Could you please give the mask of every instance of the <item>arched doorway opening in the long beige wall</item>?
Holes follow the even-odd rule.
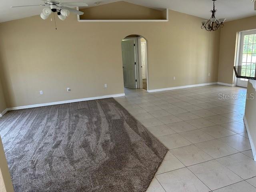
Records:
[[[148,90],[147,40],[129,35],[122,40],[124,88]]]

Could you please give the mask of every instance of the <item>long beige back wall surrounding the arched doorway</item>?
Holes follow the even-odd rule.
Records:
[[[220,32],[202,30],[201,18],[169,14],[169,22],[95,23],[70,15],[57,20],[58,30],[39,16],[1,23],[7,107],[124,93],[121,40],[130,34],[147,40],[149,90],[216,82]]]

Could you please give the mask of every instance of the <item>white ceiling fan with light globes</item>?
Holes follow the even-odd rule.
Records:
[[[47,19],[52,12],[57,12],[58,18],[61,20],[65,20],[66,17],[69,16],[70,12],[82,15],[84,12],[78,11],[72,8],[69,8],[68,6],[88,6],[85,2],[60,2],[58,0],[42,0],[44,4],[40,5],[24,5],[24,6],[12,6],[11,8],[17,8],[17,7],[30,7],[30,6],[46,6],[46,8],[43,9],[42,13],[40,14],[40,17],[42,19]]]

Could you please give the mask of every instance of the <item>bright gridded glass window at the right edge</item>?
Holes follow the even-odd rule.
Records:
[[[256,30],[241,32],[239,66],[241,76],[255,77],[256,70]],[[245,80],[245,79],[240,79]]]

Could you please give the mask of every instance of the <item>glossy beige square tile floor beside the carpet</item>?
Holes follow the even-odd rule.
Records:
[[[245,88],[220,85],[116,100],[168,149],[147,192],[256,192],[256,162],[243,123]],[[220,95],[219,95],[220,94]]]

